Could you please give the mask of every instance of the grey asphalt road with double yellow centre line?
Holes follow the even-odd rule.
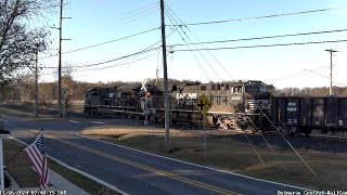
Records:
[[[2,118],[26,142],[43,128],[48,154],[128,194],[278,194],[305,191],[142,153],[81,136],[104,121],[21,121]],[[107,122],[107,120],[106,120]]]

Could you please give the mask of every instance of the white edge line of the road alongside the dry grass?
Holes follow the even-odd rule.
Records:
[[[300,187],[300,186],[294,186],[294,185],[284,184],[284,183],[278,183],[278,182],[268,181],[268,180],[262,180],[262,179],[258,179],[258,178],[252,178],[252,177],[248,177],[248,176],[239,174],[239,173],[230,172],[230,171],[227,171],[227,170],[220,170],[220,169],[216,169],[216,168],[211,168],[211,167],[205,167],[205,166],[197,165],[197,164],[193,164],[193,162],[189,162],[189,161],[183,161],[183,160],[179,160],[179,159],[175,159],[175,158],[169,158],[169,157],[166,157],[166,156],[159,156],[159,155],[156,155],[156,154],[152,154],[152,153],[139,151],[139,150],[136,150],[136,148],[131,148],[131,147],[118,145],[118,144],[115,144],[115,143],[110,143],[110,142],[106,142],[106,141],[103,141],[103,140],[98,140],[98,139],[94,139],[94,138],[86,136],[86,135],[82,135],[82,134],[79,134],[79,133],[75,133],[75,134],[76,134],[76,135],[79,135],[79,136],[87,138],[87,139],[95,140],[95,141],[98,141],[98,142],[106,143],[106,144],[110,144],[110,145],[116,145],[116,146],[118,146],[118,147],[127,148],[127,150],[130,150],[130,151],[134,151],[134,152],[139,152],[139,153],[143,153],[143,154],[156,156],[156,157],[159,157],[159,158],[165,158],[165,159],[169,159],[169,160],[174,160],[174,161],[178,161],[178,162],[182,162],[182,164],[187,164],[187,165],[192,165],[192,166],[196,166],[196,167],[201,167],[201,168],[205,168],[205,169],[209,169],[209,170],[214,170],[214,171],[218,171],[218,172],[223,172],[223,173],[228,173],[228,174],[233,174],[233,176],[237,176],[237,177],[243,177],[243,178],[247,178],[247,179],[250,179],[250,180],[256,180],[256,181],[261,181],[261,182],[268,182],[268,183],[272,183],[272,184],[277,184],[277,185],[295,187],[295,188],[299,188],[299,190],[303,190],[303,191],[313,192],[313,190],[310,190],[310,188],[305,188],[305,187]]]

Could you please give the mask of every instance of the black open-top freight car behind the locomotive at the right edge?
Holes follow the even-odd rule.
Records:
[[[347,98],[272,98],[271,120],[284,134],[347,130]]]

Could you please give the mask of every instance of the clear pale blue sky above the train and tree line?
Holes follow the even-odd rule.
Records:
[[[166,0],[165,6],[169,78],[262,80],[277,88],[329,87],[330,53],[324,50],[333,49],[338,51],[333,55],[333,84],[347,86],[347,42],[240,48],[346,40],[346,0]],[[262,17],[322,9],[333,10]],[[49,26],[59,26],[57,13],[47,18]],[[69,0],[63,16],[72,18],[63,20],[63,39],[70,40],[62,42],[62,66],[73,68],[75,80],[142,81],[155,78],[156,69],[163,78],[159,0]],[[188,25],[214,21],[229,22]],[[332,30],[343,31],[202,43]],[[39,55],[40,81],[57,78],[59,30],[50,31],[50,50]],[[117,41],[70,52],[112,40]],[[149,47],[153,50],[141,52]],[[214,50],[187,51],[204,48]],[[111,62],[103,63],[106,61]]]

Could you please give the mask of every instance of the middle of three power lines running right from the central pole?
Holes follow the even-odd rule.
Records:
[[[343,32],[343,31],[347,31],[347,28],[346,29],[335,29],[335,30],[323,30],[323,31],[309,31],[309,32],[298,32],[298,34],[265,36],[265,37],[252,37],[252,38],[241,38],[241,39],[227,39],[227,40],[215,40],[215,41],[205,41],[205,42],[193,42],[193,43],[189,43],[189,44],[213,44],[213,43],[224,43],[224,42],[236,42],[236,41],[273,39],[273,38],[283,38],[283,37],[321,35],[321,34]],[[185,44],[170,44],[169,47],[179,47],[179,46],[185,46]]]

